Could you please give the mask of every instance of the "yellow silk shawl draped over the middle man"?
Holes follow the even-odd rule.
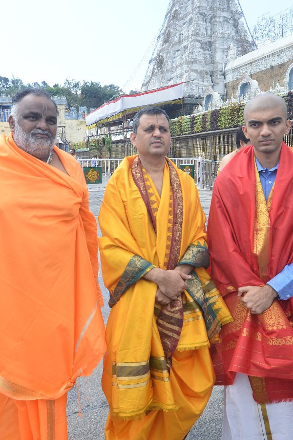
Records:
[[[114,304],[106,330],[112,364],[111,390],[105,378],[102,385],[111,412],[124,419],[141,417],[150,409],[176,410],[154,314],[157,286],[143,278],[154,266],[166,266],[169,167],[166,162],[155,232],[146,204],[133,180],[131,166],[135,157],[126,157],[109,180],[99,215],[103,234],[99,239],[103,278],[112,298],[110,305]],[[206,246],[206,219],[193,180],[169,163],[179,177],[183,200],[180,260],[190,244]],[[217,325],[212,324],[209,333],[215,337],[221,324],[231,320],[230,313],[206,270],[202,267],[195,270],[203,286],[200,289],[203,295],[205,292],[207,303],[212,305],[216,315]],[[133,284],[127,287],[131,278]],[[123,294],[115,303],[113,297],[117,290]],[[177,350],[208,347],[203,311],[187,291],[183,294],[183,305],[184,320]],[[109,359],[106,364],[109,365]]]

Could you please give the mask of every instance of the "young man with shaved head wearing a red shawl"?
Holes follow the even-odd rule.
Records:
[[[211,277],[234,322],[213,350],[225,387],[223,440],[293,438],[293,149],[283,98],[244,110],[251,140],[216,178]]]

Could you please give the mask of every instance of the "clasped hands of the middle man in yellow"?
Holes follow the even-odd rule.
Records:
[[[180,266],[177,266],[172,270],[154,267],[145,275],[145,278],[157,284],[156,303],[165,306],[188,288],[186,280],[189,280],[191,276],[180,270]]]

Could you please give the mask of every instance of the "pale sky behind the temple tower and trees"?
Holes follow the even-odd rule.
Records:
[[[11,0],[1,5],[0,76],[63,85],[66,78],[139,88],[169,0]],[[293,0],[240,0],[251,29]],[[281,5],[281,7],[279,7]],[[5,19],[4,19],[5,17]],[[128,81],[128,83],[127,83]],[[127,83],[127,85],[126,85]]]

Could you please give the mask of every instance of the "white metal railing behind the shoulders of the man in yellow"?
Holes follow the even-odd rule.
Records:
[[[98,167],[102,167],[102,183],[88,185],[89,191],[104,191],[109,178],[112,176],[116,168],[122,162],[120,159],[96,159]],[[201,188],[213,187],[213,182],[217,176],[219,161],[203,160],[201,157],[170,157],[170,160],[180,168],[181,165],[194,166],[194,182]],[[90,159],[79,158],[82,168],[93,166]]]

